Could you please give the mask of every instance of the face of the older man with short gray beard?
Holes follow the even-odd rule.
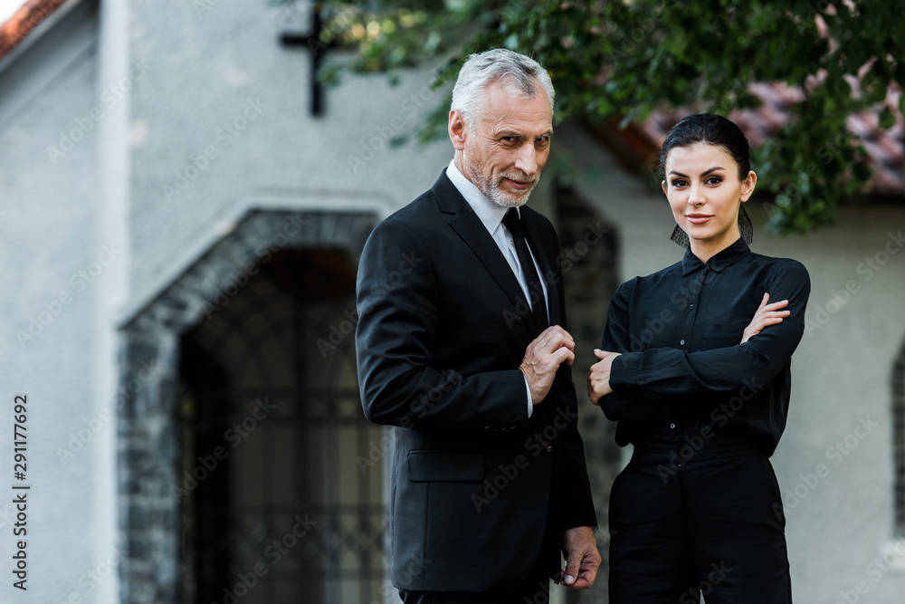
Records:
[[[506,91],[492,82],[485,91],[484,110],[472,119],[470,127],[459,129],[450,115],[453,130],[462,133],[462,169],[464,176],[491,201],[499,206],[525,204],[550,153],[553,116],[547,94],[535,89],[534,97],[525,99],[518,92]]]

